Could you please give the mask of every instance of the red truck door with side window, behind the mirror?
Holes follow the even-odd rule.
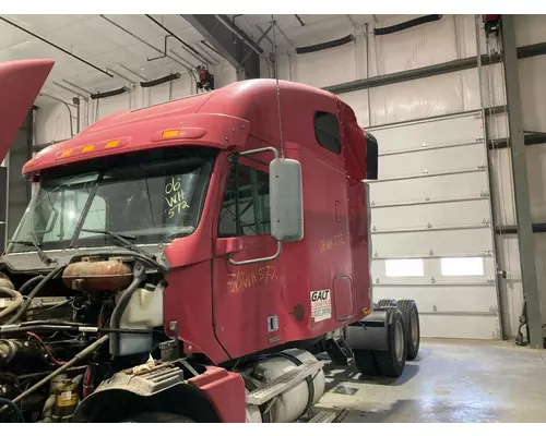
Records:
[[[245,158],[227,164],[221,194],[213,259],[214,329],[230,355],[248,354],[281,340],[278,319],[271,312],[282,287],[277,261],[229,263],[229,258],[240,262],[276,252],[270,235],[268,164]]]

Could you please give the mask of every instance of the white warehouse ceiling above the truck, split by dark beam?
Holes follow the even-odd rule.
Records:
[[[237,26],[254,41],[261,37],[260,29],[266,29],[271,23],[271,15],[228,16],[235,17]],[[216,52],[202,44],[204,38],[180,15],[151,15],[151,17],[146,15],[2,15],[1,17],[114,75],[110,77],[4,20],[0,21],[2,35],[0,61],[54,59],[56,65],[43,92],[64,100],[74,96],[74,93],[62,88],[75,90],[71,84],[91,93],[105,92],[127,85],[129,80],[133,83],[150,81],[173,72],[183,73],[186,71],[183,65],[194,68],[203,63],[173,37],[167,40],[167,53],[170,58],[161,58],[167,32],[151,17],[206,59],[212,60],[213,65],[223,61]],[[280,29],[276,33],[276,44],[280,50],[294,50],[292,38],[308,39],[309,44],[323,43],[321,34],[340,26],[340,23],[344,23],[349,34],[356,32],[356,28],[365,23],[373,22],[375,19],[373,15],[275,15]],[[270,33],[269,38],[271,37]],[[272,46],[268,38],[262,38],[260,46],[266,53],[271,51]],[[158,57],[159,59],[153,61],[147,60]],[[39,104],[40,100],[38,100]]]

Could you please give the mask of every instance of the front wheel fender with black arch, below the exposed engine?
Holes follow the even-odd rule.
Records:
[[[211,378],[206,371],[209,368],[212,370],[214,379],[207,384],[206,379]],[[186,380],[182,370],[175,365],[140,375],[130,371],[116,373],[79,404],[72,422],[121,422],[145,412],[175,413],[204,423],[234,421],[229,415],[223,416],[226,413],[215,407],[218,405],[218,398],[209,395],[209,385],[217,387],[223,384],[223,377],[218,377],[218,372],[214,370],[228,374],[228,377],[238,376],[223,368],[206,367],[203,374]],[[199,379],[202,382],[195,384],[194,380]],[[230,385],[229,378],[225,378],[225,382]],[[242,379],[240,383],[242,384]],[[225,402],[219,403],[222,409],[222,403]],[[245,422],[244,399],[241,412]]]

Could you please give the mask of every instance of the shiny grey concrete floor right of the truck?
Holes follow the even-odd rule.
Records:
[[[546,422],[546,351],[510,342],[422,340],[397,380],[329,362],[324,373],[317,407],[348,409],[342,422]]]

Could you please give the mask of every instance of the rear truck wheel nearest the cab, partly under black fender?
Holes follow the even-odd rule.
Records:
[[[400,377],[406,364],[406,340],[404,335],[404,316],[399,308],[392,310],[392,322],[388,326],[387,351],[373,351],[377,370],[387,377]]]

